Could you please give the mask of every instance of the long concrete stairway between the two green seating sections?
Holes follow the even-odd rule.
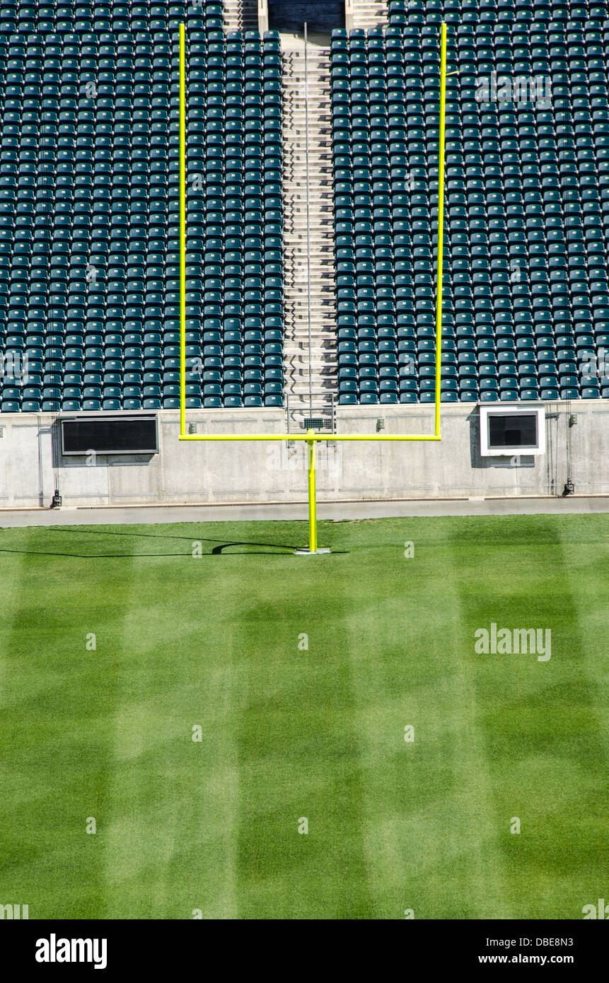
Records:
[[[329,40],[329,38],[328,38]],[[304,41],[281,36],[283,49],[283,196],[285,391],[289,409],[309,403],[307,160]],[[287,50],[286,50],[287,47]],[[311,240],[311,388],[313,409],[330,409],[337,391],[335,226],[330,48],[308,47]]]

